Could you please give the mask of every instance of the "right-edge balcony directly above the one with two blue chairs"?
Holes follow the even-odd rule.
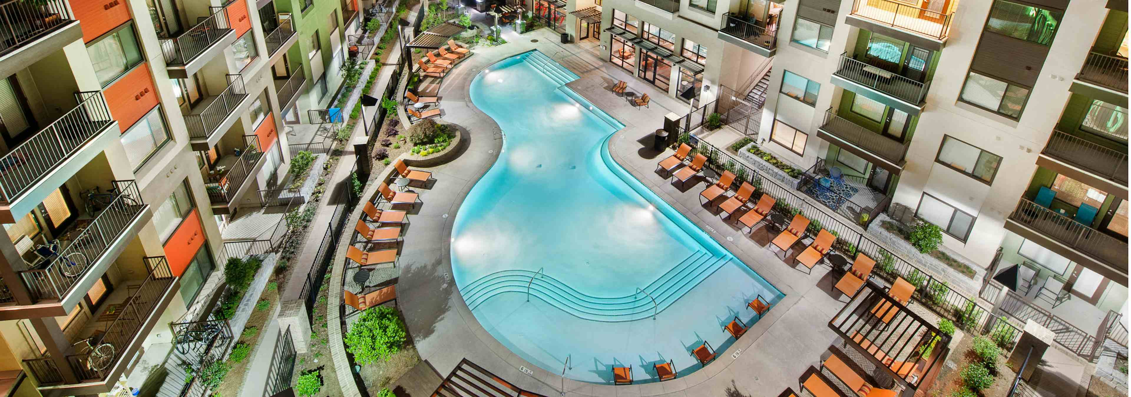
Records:
[[[1128,189],[1128,155],[1072,134],[1053,130],[1037,165],[1105,192]]]

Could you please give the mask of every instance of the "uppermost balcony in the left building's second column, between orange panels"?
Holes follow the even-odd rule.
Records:
[[[159,39],[170,78],[189,78],[235,42],[235,33],[227,24],[227,11],[223,7],[209,7],[208,10],[211,15],[180,36]]]

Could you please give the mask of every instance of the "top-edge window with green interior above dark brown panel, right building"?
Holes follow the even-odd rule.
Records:
[[[1020,38],[1027,42],[1050,45],[1056,35],[1056,27],[1064,11],[1046,10],[1003,0],[994,1],[990,9],[986,30]]]

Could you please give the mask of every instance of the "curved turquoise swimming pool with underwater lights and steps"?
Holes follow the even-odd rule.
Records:
[[[690,349],[726,349],[722,325],[783,294],[612,160],[624,125],[564,87],[576,79],[532,51],[472,81],[504,143],[456,215],[456,284],[492,336],[550,372],[567,358],[566,376],[590,382],[629,364],[647,381],[668,360],[692,372]]]

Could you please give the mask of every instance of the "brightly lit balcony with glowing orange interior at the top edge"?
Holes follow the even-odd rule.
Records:
[[[942,50],[950,36],[952,10],[949,2],[931,1],[927,8],[891,0],[855,0],[845,23],[891,36],[932,51]]]

